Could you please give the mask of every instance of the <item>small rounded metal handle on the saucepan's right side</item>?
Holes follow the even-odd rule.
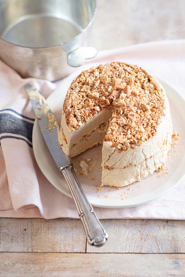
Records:
[[[72,67],[83,65],[85,59],[94,58],[98,51],[94,47],[80,47],[67,54],[67,63]]]

